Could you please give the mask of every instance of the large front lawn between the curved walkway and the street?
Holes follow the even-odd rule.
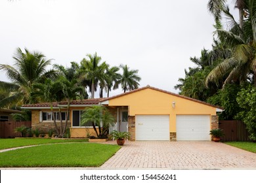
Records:
[[[0,167],[99,167],[119,148],[81,142],[43,144],[0,153]]]

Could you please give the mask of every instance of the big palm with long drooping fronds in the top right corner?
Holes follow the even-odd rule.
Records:
[[[256,86],[256,1],[248,0],[245,6],[248,18],[244,21],[242,29],[226,9],[231,29],[229,31],[217,29],[216,33],[219,40],[230,49],[231,56],[209,73],[205,80],[206,85],[228,73],[224,84],[241,83],[252,76]]]

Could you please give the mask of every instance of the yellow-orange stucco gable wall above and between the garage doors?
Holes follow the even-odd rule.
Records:
[[[175,101],[175,108],[172,103]],[[216,108],[196,101],[184,99],[169,93],[146,88],[128,95],[123,95],[108,101],[109,106],[128,106],[129,115],[169,114],[170,132],[176,132],[177,114],[208,114],[216,115]]]

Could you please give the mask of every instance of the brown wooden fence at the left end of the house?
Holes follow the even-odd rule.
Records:
[[[21,137],[21,133],[15,132],[15,129],[22,125],[31,127],[31,122],[0,122],[0,138]]]

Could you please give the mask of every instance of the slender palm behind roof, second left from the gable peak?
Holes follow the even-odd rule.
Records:
[[[108,67],[106,69],[106,86],[107,86],[107,95],[109,97],[110,91],[116,90],[119,86],[118,80],[121,79],[121,75],[117,73],[119,71],[119,67]]]

